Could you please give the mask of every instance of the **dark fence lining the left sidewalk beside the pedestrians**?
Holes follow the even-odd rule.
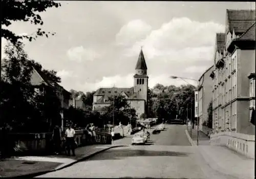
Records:
[[[75,141],[78,146],[111,144],[110,134],[102,131],[95,131],[95,134],[92,137],[87,130],[76,130]],[[61,135],[64,137],[65,131]],[[9,133],[4,140],[6,143],[2,146],[2,154],[48,154],[53,148],[52,133]],[[4,141],[1,143],[4,144]]]

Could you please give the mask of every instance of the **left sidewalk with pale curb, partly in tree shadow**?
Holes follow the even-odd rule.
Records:
[[[119,145],[89,145],[75,150],[76,156],[14,156],[0,161],[0,177],[31,175],[71,166],[93,154]]]

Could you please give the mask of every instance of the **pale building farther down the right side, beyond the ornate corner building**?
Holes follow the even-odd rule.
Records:
[[[212,69],[214,69],[214,65],[210,66],[210,68],[208,68],[199,78],[198,110],[200,129],[202,129],[203,123],[208,120],[207,109],[212,100],[212,79],[210,78],[210,73],[212,72]]]

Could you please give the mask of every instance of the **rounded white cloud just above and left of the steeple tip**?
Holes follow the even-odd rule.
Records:
[[[141,19],[131,20],[116,34],[116,43],[119,46],[131,46],[150,34],[152,27]]]

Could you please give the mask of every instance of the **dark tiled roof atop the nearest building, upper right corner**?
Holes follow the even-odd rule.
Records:
[[[229,32],[243,33],[255,22],[255,10],[227,9],[227,25]]]

